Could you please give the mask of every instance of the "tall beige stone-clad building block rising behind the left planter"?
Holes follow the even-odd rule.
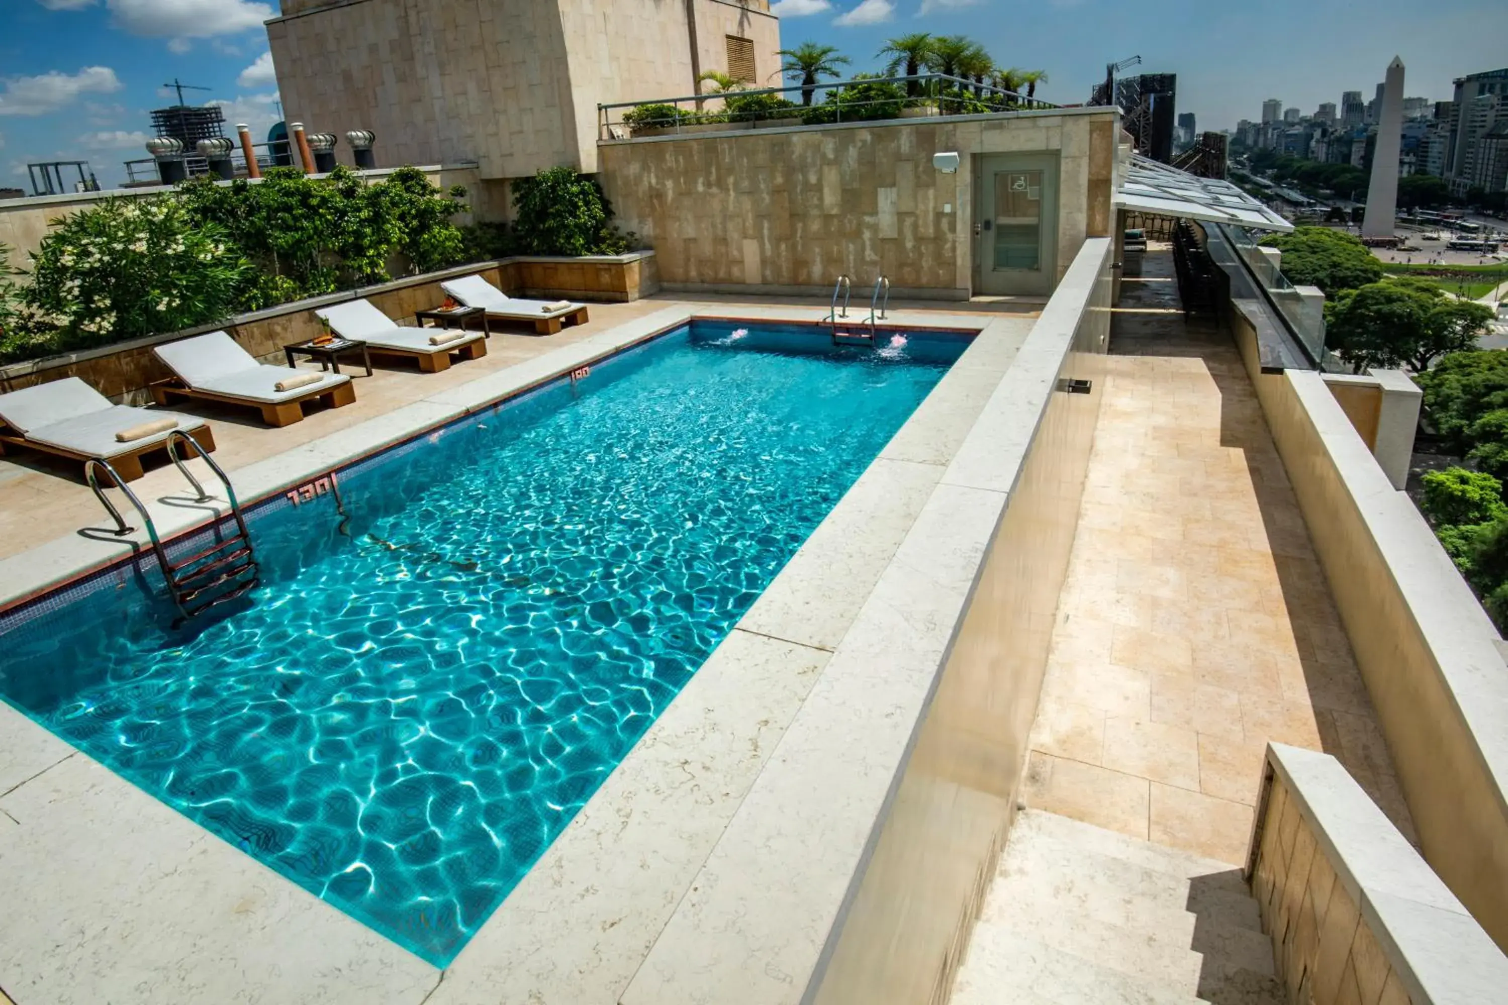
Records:
[[[597,170],[599,104],[780,71],[769,0],[282,0],[267,39],[288,121],[371,130],[388,163],[477,161],[484,179]]]

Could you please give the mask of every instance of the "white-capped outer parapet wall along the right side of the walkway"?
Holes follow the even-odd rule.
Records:
[[[1283,458],[1408,803],[1419,847],[1508,946],[1508,677],[1491,622],[1424,517],[1389,484],[1318,374],[1262,374],[1234,334]]]

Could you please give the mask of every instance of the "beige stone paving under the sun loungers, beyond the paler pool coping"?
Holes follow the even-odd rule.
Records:
[[[562,345],[599,334],[626,321],[674,306],[709,309],[716,313],[725,310],[733,316],[737,316],[740,310],[751,309],[766,312],[771,309],[789,309],[792,316],[816,318],[826,310],[828,304],[810,297],[749,300],[716,295],[661,295],[635,303],[594,303],[591,304],[591,321],[588,324],[570,327],[558,334],[544,338],[495,331],[489,341],[486,357],[455,363],[440,374],[421,374],[412,366],[395,365],[386,368],[374,366],[372,377],[366,377],[365,371],[359,366],[351,368],[342,363],[342,372],[351,374],[351,380],[356,384],[356,402],[342,408],[311,407],[306,410],[302,422],[280,429],[262,425],[256,413],[250,408],[223,407],[213,402],[175,404],[173,408],[204,416],[210,420],[217,444],[214,457],[234,482],[237,469],[247,464],[262,461],[303,443],[386,414],[439,390],[464,384],[478,377],[558,350]],[[1030,303],[896,301],[891,309],[893,312],[908,310],[918,315],[1009,313],[1012,316],[1034,316],[1038,306]],[[851,309],[851,316],[861,318],[866,315],[866,310],[860,310],[855,306]],[[942,322],[939,321],[939,324]],[[302,360],[300,366],[314,369],[318,363]],[[146,476],[131,482],[131,488],[143,502],[149,503],[154,499],[182,491],[182,478],[161,455],[149,460],[148,464],[149,470]],[[151,467],[154,464],[155,467]],[[202,479],[213,478],[199,461],[192,461],[190,464],[195,466]],[[77,463],[30,451],[0,457],[0,559],[18,554],[62,535],[74,533],[80,527],[104,527],[109,524],[109,518],[101,511],[100,503],[83,484],[81,473],[83,467]],[[210,482],[205,481],[205,484],[208,487]]]

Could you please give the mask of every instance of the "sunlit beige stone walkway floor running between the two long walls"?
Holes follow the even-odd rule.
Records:
[[[1274,740],[1333,753],[1411,835],[1240,357],[1167,312],[1157,258],[1114,319],[1027,802],[1241,862]]]

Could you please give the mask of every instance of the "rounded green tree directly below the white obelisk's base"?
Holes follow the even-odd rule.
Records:
[[[1475,348],[1491,318],[1490,307],[1419,280],[1368,283],[1326,304],[1326,342],[1357,372],[1410,366],[1422,374],[1448,353]]]

